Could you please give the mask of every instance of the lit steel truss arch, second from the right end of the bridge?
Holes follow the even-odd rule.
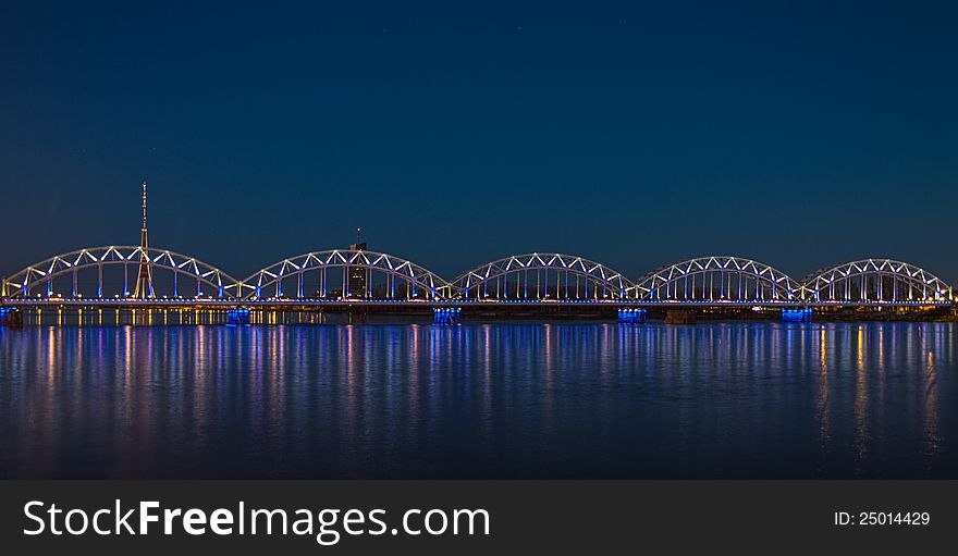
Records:
[[[789,301],[800,295],[801,285],[759,261],[710,256],[660,267],[640,277],[636,289],[648,300]]]

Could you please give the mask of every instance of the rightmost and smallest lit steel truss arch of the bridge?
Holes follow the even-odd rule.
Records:
[[[951,286],[931,272],[893,259],[861,259],[812,272],[802,281],[814,301],[945,301]]]

